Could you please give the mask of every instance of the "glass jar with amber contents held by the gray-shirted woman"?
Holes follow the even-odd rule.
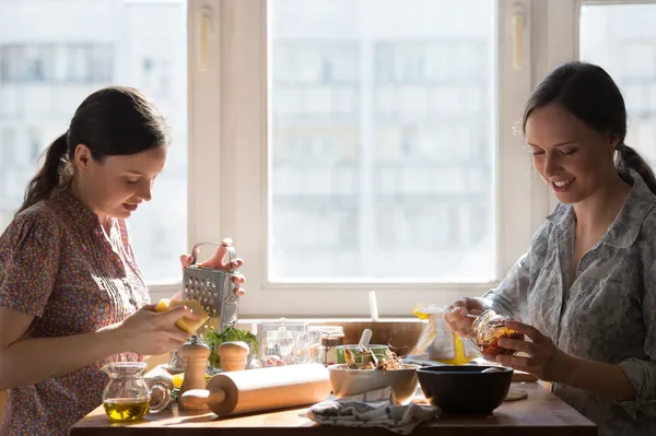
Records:
[[[515,350],[508,350],[499,346],[501,338],[523,340],[524,334],[505,327],[505,321],[512,320],[511,317],[499,315],[492,309],[483,311],[475,321],[471,328],[476,334],[473,340],[480,355],[490,362],[495,362],[500,354],[516,354]]]

